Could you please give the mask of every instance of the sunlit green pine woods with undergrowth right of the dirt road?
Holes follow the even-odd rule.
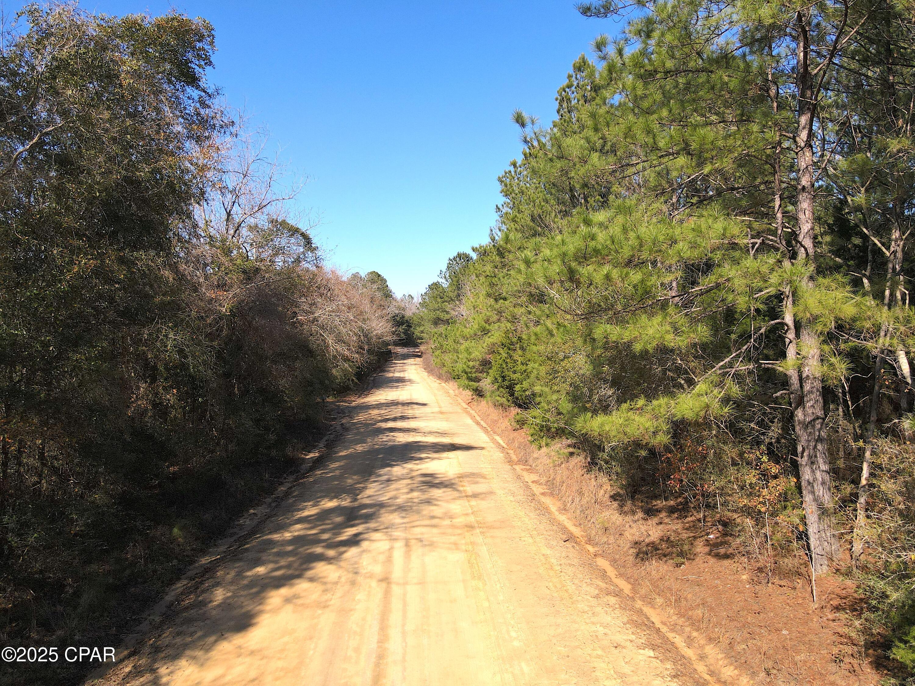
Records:
[[[418,333],[629,498],[855,578],[915,670],[915,6],[579,9],[628,22],[550,126],[515,113],[498,223]]]

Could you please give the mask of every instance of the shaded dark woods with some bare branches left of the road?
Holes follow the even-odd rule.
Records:
[[[0,40],[0,637],[110,644],[409,331],[322,263],[206,21],[30,6]]]

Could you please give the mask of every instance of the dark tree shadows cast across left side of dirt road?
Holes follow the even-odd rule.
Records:
[[[388,390],[402,379],[393,370],[373,385]],[[169,681],[175,672],[162,668],[178,669],[217,640],[252,627],[275,592],[304,579],[319,590],[321,584],[337,583],[340,574],[364,573],[355,566],[365,541],[403,541],[411,524],[434,525],[436,513],[444,516],[449,503],[465,498],[457,477],[433,463],[439,456],[481,448],[411,427],[419,415],[436,413],[425,402],[385,401],[378,395],[373,392],[358,403],[359,413],[348,422],[339,445],[290,488],[268,520],[183,589],[157,623],[155,637],[113,670],[111,681]],[[465,472],[461,478],[472,485],[478,477]],[[393,531],[392,518],[403,526]],[[455,547],[460,545],[457,536]]]

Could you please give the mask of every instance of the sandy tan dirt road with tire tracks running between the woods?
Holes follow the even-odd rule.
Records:
[[[413,351],[104,683],[705,683]]]

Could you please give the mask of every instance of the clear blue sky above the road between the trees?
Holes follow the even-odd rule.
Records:
[[[573,60],[615,32],[574,0],[81,6],[208,19],[211,81],[310,178],[298,205],[320,218],[328,262],[377,270],[398,294],[423,291],[449,256],[487,240],[497,178],[521,150],[511,112],[552,121]]]

